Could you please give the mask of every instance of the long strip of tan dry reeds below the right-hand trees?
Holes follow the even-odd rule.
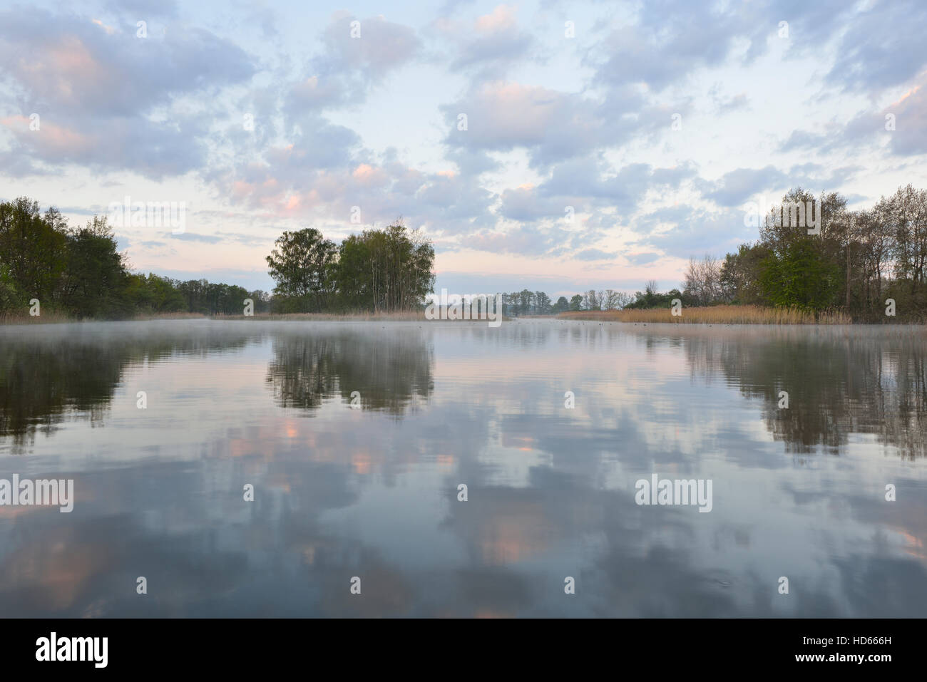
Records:
[[[575,310],[562,312],[566,320],[599,322],[674,322],[677,324],[850,324],[852,319],[841,310],[764,308],[761,306],[710,306],[683,308],[673,315],[669,308],[627,310]]]

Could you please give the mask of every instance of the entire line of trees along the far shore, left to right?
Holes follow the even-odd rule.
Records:
[[[815,205],[818,220],[794,207]],[[927,190],[908,184],[872,208],[848,210],[846,198],[802,188],[782,198],[759,225],[756,242],[724,259],[691,259],[681,289],[649,282],[633,296],[589,290],[552,300],[541,291],[502,294],[508,316],[566,310],[747,304],[843,309],[854,320],[884,319],[886,299],[899,318],[927,317]],[[812,232],[813,234],[809,234]],[[26,197],[0,202],[0,313],[44,309],[76,318],[139,313],[396,311],[422,309],[434,289],[434,247],[401,220],[351,234],[338,245],[313,228],[285,232],[266,257],[273,294],[206,280],[181,282],[130,272],[105,217],[71,228],[56,208],[40,213]]]

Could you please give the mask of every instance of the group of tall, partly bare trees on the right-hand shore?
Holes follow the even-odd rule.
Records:
[[[812,202],[819,221],[809,230],[807,216],[803,221],[792,207]],[[884,320],[891,298],[898,317],[921,319],[927,313],[925,266],[927,190],[908,184],[872,208],[848,210],[836,192],[816,200],[799,187],[770,209],[756,242],[724,259],[691,259],[682,291],[675,293],[684,305],[843,309],[859,322]]]

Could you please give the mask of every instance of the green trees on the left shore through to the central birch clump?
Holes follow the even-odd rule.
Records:
[[[71,228],[37,201],[0,202],[0,315],[41,310],[68,317],[122,319],[139,314],[253,311],[376,311],[424,307],[434,284],[434,249],[400,224],[352,234],[340,246],[317,230],[284,233],[267,257],[273,295],[236,284],[182,282],[131,272],[106,217]]]

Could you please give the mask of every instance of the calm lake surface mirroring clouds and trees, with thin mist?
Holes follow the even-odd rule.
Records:
[[[0,478],[75,487],[0,507],[0,616],[927,616],[925,362],[914,327],[0,327]]]

